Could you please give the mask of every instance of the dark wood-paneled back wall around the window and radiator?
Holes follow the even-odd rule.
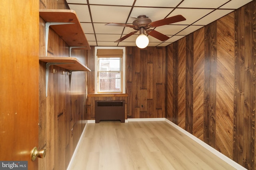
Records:
[[[95,56],[91,47],[88,67],[88,93],[95,93]],[[126,47],[126,93],[128,118],[165,117],[166,98],[165,47]],[[108,98],[113,100],[115,97]],[[94,100],[90,99],[90,104]],[[126,100],[126,97],[123,98]],[[88,119],[94,119],[94,107],[88,103]]]

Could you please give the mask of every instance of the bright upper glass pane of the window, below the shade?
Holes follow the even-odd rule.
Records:
[[[121,58],[99,58],[99,71],[120,71]]]

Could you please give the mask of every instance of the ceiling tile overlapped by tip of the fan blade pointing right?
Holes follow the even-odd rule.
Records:
[[[182,14],[182,16],[184,16],[186,18],[186,20],[176,22],[175,24],[190,25],[190,24],[194,23],[195,21],[197,21],[198,19],[206,16],[206,14],[209,14],[212,11],[213,10],[208,10],[208,9],[180,9],[179,8],[179,9],[174,10],[174,12],[172,12],[170,14],[170,16],[168,16],[168,17]]]

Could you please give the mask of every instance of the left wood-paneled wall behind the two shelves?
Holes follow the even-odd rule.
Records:
[[[65,0],[40,0],[40,9],[68,9]],[[45,22],[40,18],[40,57],[45,57]],[[87,50],[72,50],[87,65]],[[48,57],[68,57],[69,47],[50,29]],[[45,90],[45,63],[39,67],[39,148],[46,148],[46,157],[39,160],[39,170],[66,170],[86,120],[86,72],[72,72],[50,66],[48,97]],[[56,69],[56,73],[52,70]]]

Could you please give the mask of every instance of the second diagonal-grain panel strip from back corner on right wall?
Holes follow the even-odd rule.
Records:
[[[178,40],[178,125],[185,129],[186,118],[186,38]]]

